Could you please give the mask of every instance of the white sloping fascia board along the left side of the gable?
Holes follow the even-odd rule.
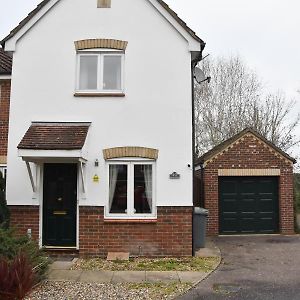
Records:
[[[13,37],[5,42],[5,51],[14,52],[16,50],[17,41],[34,26],[57,2],[60,0],[52,0],[47,3],[25,26],[20,29]]]

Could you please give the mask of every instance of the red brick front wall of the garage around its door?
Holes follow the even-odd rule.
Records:
[[[205,208],[209,210],[208,235],[219,234],[218,176],[219,170],[224,169],[245,171],[256,169],[262,170],[262,174],[266,172],[265,170],[280,170],[280,233],[294,233],[293,163],[254,135],[246,134],[206,163],[204,170],[204,202]]]

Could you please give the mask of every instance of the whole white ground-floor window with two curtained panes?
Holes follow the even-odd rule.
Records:
[[[106,218],[156,218],[155,162],[112,161],[108,166]]]

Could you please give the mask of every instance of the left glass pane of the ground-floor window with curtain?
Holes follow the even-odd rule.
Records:
[[[127,213],[127,165],[109,166],[109,212]]]

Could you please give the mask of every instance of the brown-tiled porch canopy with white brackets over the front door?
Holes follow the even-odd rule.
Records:
[[[83,164],[87,161],[85,142],[90,125],[88,122],[31,124],[18,145],[18,155],[26,162],[34,192],[36,183],[30,163],[36,165],[44,162],[78,162],[83,180]]]

